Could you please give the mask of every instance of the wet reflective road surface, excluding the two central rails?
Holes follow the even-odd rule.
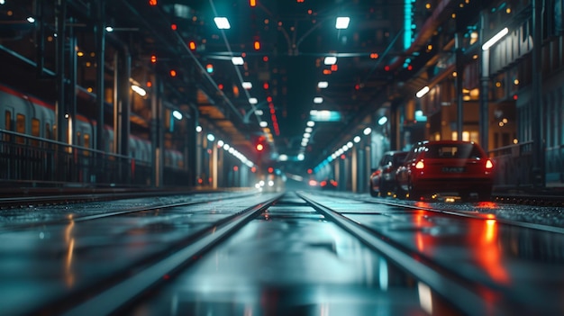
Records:
[[[115,275],[132,274],[132,263],[149,262],[178,240],[275,195],[222,196],[215,201],[206,195],[199,202],[193,196],[159,202],[85,203],[75,205],[76,210],[70,205],[3,210],[0,295],[5,300],[0,310],[3,314],[58,314],[63,310],[53,306],[70,307],[74,302],[68,302],[69,297],[86,289],[101,290]],[[470,296],[476,296],[480,306],[468,312],[464,302],[471,301],[468,297],[457,297],[457,292],[445,295],[442,285],[429,275],[410,271],[386,250],[360,241],[296,194],[287,193],[220,245],[186,259],[190,261],[186,269],[162,275],[162,282],[118,313],[564,313],[564,304],[559,302],[564,296],[564,275],[559,274],[564,235],[558,232],[559,221],[555,220],[556,231],[546,231],[541,229],[550,226],[546,221],[540,229],[532,229],[499,219],[499,213],[509,212],[526,217],[529,206],[450,204],[449,212],[464,214],[453,217],[428,209],[446,209],[441,203],[412,203],[415,208],[405,209],[374,203],[396,200],[367,200],[354,194],[305,196],[361,223],[406,257],[456,280]],[[182,204],[187,200],[191,203]],[[159,207],[168,202],[177,206]],[[85,220],[123,210],[124,205],[142,209],[149,204],[148,211]],[[531,217],[546,216],[535,213]],[[91,311],[99,314],[94,308]]]

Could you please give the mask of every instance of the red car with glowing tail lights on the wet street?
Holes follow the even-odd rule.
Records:
[[[477,143],[461,140],[423,141],[414,145],[396,171],[396,194],[419,200],[431,194],[458,194],[488,200],[494,164]]]

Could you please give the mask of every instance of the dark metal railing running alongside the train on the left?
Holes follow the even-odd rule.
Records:
[[[4,185],[150,185],[151,169],[131,157],[0,130]]]

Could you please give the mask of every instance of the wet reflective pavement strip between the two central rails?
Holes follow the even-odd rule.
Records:
[[[285,201],[287,205],[285,205]],[[283,200],[131,315],[456,315],[305,203]],[[433,310],[434,309],[434,310]]]

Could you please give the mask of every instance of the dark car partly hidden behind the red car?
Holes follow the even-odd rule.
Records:
[[[378,168],[372,170],[368,181],[372,196],[386,196],[396,189],[396,169],[404,162],[407,151],[392,150],[384,153]]]

